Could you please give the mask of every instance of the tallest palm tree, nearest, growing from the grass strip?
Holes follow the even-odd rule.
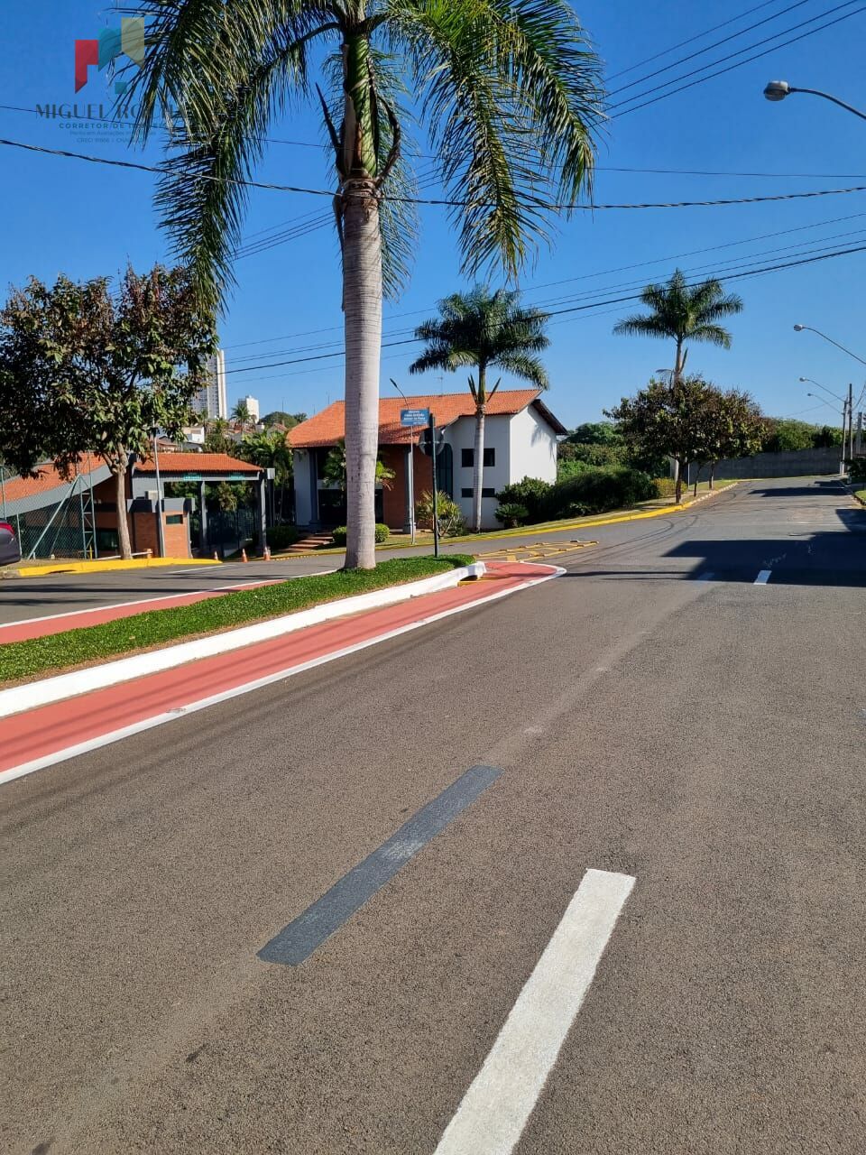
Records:
[[[590,184],[598,57],[566,0],[140,0],[136,12],[147,53],[118,113],[135,116],[140,142],[160,114],[171,124],[156,200],[214,307],[269,131],[288,106],[321,106],[343,267],[346,566],[372,568],[382,295],[415,252],[405,124],[426,124],[464,267],[514,276],[550,200]]]

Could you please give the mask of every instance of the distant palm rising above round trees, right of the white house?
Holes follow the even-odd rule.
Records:
[[[679,381],[686,367],[687,341],[707,341],[723,349],[731,348],[731,334],[718,321],[742,312],[742,299],[725,293],[722,282],[711,277],[689,285],[681,269],[675,269],[666,285],[647,285],[641,301],[650,314],[635,313],[613,327],[618,334],[639,337],[670,337],[677,343],[673,380]]]

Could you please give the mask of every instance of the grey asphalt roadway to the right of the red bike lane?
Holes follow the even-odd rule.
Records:
[[[866,512],[771,482],[617,530],[3,788],[3,1152],[433,1155],[588,870],[634,888],[518,1155],[866,1148]]]

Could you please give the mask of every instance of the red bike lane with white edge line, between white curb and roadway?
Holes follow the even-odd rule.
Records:
[[[487,562],[487,575],[481,581],[337,618],[273,641],[12,715],[0,723],[0,782],[538,584],[559,572],[555,566],[536,562]]]

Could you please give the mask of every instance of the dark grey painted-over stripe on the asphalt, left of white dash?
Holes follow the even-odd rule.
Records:
[[[436,798],[383,842],[364,862],[353,866],[304,914],[259,951],[262,962],[297,967],[326,939],[339,930],[356,911],[478,798],[502,770],[495,766],[472,766]]]

